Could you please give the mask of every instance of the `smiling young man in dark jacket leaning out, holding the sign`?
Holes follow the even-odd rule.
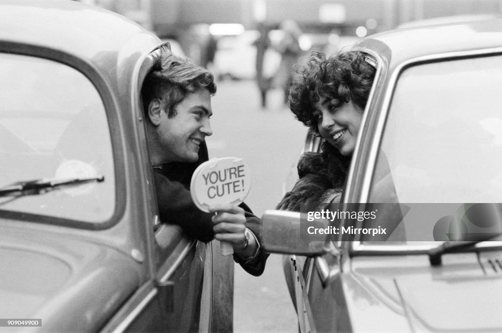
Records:
[[[212,134],[209,118],[215,92],[208,70],[172,54],[157,56],[145,78],[143,107],[160,218],[200,241],[216,238],[230,243],[234,260],[258,276],[267,258],[257,238],[260,219],[245,204],[215,205],[205,213],[190,196],[192,174],[208,160],[204,139]]]

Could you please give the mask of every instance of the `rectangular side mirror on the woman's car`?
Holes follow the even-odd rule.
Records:
[[[327,252],[325,242],[312,242],[302,238],[300,212],[296,211],[265,211],[262,216],[261,238],[263,248],[270,253],[313,257]]]

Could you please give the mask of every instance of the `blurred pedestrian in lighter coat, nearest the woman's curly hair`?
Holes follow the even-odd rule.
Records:
[[[274,48],[281,54],[281,63],[274,80],[274,86],[283,90],[284,103],[288,103],[289,85],[293,77],[293,66],[302,54],[299,38],[302,34],[300,27],[293,20],[281,22],[279,29],[284,37]]]

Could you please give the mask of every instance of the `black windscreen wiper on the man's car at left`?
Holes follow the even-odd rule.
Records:
[[[20,181],[0,188],[0,197],[41,194],[59,188],[61,186],[80,185],[94,181],[102,182],[104,181],[104,176],[65,179],[44,178]]]

